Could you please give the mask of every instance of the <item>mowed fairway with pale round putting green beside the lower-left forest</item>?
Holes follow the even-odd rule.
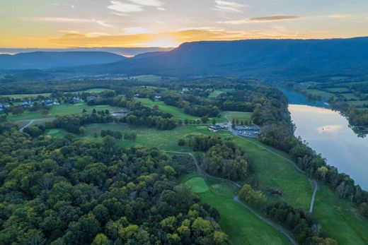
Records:
[[[185,180],[185,184],[192,186],[193,191],[197,191],[203,203],[219,211],[219,224],[234,245],[290,244],[277,229],[234,201],[236,188],[231,184],[212,178],[204,179],[199,174],[190,174],[190,179]]]

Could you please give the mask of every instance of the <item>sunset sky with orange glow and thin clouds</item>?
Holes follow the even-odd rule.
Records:
[[[367,0],[0,0],[0,48],[368,36]]]

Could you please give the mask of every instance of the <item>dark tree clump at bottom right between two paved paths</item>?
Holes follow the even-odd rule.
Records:
[[[270,205],[266,213],[272,220],[291,230],[298,244],[338,244],[334,239],[321,234],[321,225],[311,214],[294,209],[287,203]]]

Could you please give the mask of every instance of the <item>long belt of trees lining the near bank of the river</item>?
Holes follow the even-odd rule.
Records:
[[[327,165],[326,160],[296,138],[283,124],[269,125],[263,128],[259,140],[265,144],[283,150],[292,157],[298,167],[309,177],[320,179],[341,198],[348,199],[360,209],[360,213],[368,217],[368,192],[362,190],[347,174],[339,173],[336,167]]]

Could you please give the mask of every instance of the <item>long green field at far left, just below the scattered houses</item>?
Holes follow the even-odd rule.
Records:
[[[9,121],[18,121],[18,120],[32,120],[32,119],[42,119],[42,118],[52,118],[55,116],[62,116],[62,115],[70,115],[70,114],[80,114],[83,112],[83,109],[86,109],[88,113],[91,113],[93,109],[97,111],[108,109],[110,112],[118,111],[122,108],[119,107],[110,107],[109,105],[96,105],[96,106],[89,106],[84,102],[79,102],[76,104],[60,104],[55,105],[50,109],[50,113],[42,115],[42,112],[29,112],[25,110],[23,114],[20,115],[8,115]]]

